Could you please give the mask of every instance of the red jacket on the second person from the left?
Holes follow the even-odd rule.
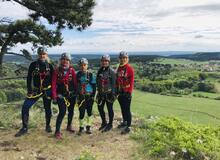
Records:
[[[64,70],[62,68],[56,68],[52,76],[52,98],[56,99],[58,94],[62,93],[64,90],[60,87],[68,85],[68,88],[72,87],[73,91],[77,93],[77,80],[76,72],[73,67],[69,67],[67,73],[64,75]],[[61,92],[61,93],[60,93]]]

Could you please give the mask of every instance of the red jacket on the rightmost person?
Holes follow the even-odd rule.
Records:
[[[116,87],[119,92],[132,93],[134,88],[134,69],[126,64],[117,70]]]

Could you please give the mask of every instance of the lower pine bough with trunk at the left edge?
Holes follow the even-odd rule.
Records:
[[[31,59],[27,50],[21,50],[22,54],[8,52],[16,44],[31,43],[33,47],[38,45],[55,46],[63,43],[59,30],[47,30],[42,24],[37,24],[31,19],[17,20],[13,23],[2,23],[0,25],[1,33],[1,52],[0,69],[2,69],[3,56],[5,54],[16,54]]]

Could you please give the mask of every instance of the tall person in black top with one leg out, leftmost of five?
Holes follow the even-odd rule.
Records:
[[[15,137],[20,137],[28,132],[29,109],[33,106],[40,97],[43,99],[46,132],[52,132],[50,120],[51,112],[51,81],[53,66],[49,62],[47,50],[44,47],[38,48],[38,59],[32,62],[28,69],[27,76],[27,97],[22,106],[22,128],[15,134]]]

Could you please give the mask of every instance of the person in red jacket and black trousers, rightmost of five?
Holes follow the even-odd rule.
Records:
[[[122,129],[121,134],[130,132],[131,126],[131,99],[134,88],[134,69],[130,66],[127,52],[119,53],[119,67],[116,73],[116,90],[118,102],[121,107],[123,121],[118,128]]]

